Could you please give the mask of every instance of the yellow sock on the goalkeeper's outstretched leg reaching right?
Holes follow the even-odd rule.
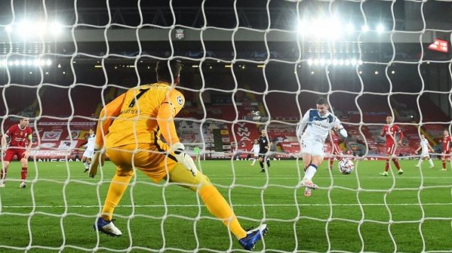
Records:
[[[219,193],[217,188],[213,185],[206,185],[199,189],[199,196],[201,196],[210,214],[222,219],[223,224],[228,227],[231,233],[237,237],[237,239],[244,238],[246,231],[242,228],[237,217],[235,216],[233,209]]]

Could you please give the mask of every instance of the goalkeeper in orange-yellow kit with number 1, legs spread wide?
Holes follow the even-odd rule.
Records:
[[[136,167],[154,182],[164,179],[198,192],[209,212],[222,220],[244,249],[252,250],[266,233],[266,225],[245,231],[226,200],[209,178],[197,170],[179,142],[174,117],[182,109],[185,99],[174,86],[179,83],[180,71],[180,62],[158,62],[157,83],[131,88],[102,109],[89,176],[96,176],[105,155],[116,165],[116,175],[111,180],[102,214],[94,228],[111,236],[122,235],[111,218]],[[161,135],[166,143],[161,140]]]

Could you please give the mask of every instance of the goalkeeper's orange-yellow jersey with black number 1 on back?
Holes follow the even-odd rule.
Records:
[[[158,82],[129,89],[102,109],[96,144],[120,147],[127,144],[156,143],[160,135],[173,144],[179,142],[174,117],[185,104],[182,93],[168,83]],[[105,135],[105,139],[102,138]]]

